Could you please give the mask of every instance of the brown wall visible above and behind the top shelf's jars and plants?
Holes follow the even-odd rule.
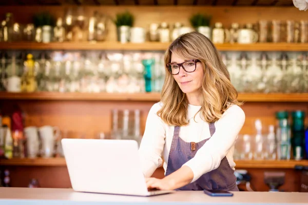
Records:
[[[20,23],[32,22],[32,15],[38,11],[49,11],[56,17],[64,17],[65,6],[1,6],[0,16],[4,18],[6,12],[13,12],[14,19]],[[129,10],[135,16],[134,26],[148,28],[150,23],[175,23],[182,22],[190,26],[188,19],[194,13],[206,13],[212,15],[211,24],[222,22],[229,28],[231,23],[240,24],[256,23],[259,19],[307,19],[308,13],[299,11],[295,7],[210,7],[210,6],[87,6],[86,16],[98,10],[111,16],[115,13]],[[117,39],[115,26],[109,20],[107,40]]]

